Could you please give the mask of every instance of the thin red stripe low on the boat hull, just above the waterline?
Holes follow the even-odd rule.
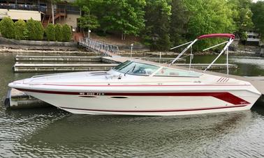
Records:
[[[214,110],[214,109],[228,109],[235,107],[243,107],[247,105],[238,105],[238,106],[219,106],[211,108],[200,108],[200,109],[168,109],[168,110],[101,110],[101,109],[78,109],[78,108],[68,108],[68,107],[59,107],[61,109],[72,109],[72,110],[82,110],[82,111],[101,111],[101,112],[123,112],[123,113],[163,113],[163,112],[182,112],[182,111],[203,111],[203,110]]]

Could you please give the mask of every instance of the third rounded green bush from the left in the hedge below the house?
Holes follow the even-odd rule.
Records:
[[[44,29],[41,22],[35,21],[34,19],[27,20],[27,30],[29,31],[29,40],[42,40]]]

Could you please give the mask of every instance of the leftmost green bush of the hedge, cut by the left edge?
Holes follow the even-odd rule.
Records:
[[[0,31],[4,38],[15,37],[14,22],[12,19],[10,19],[10,17],[3,17],[0,22]]]

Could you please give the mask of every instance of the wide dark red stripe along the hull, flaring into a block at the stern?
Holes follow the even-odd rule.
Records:
[[[47,90],[30,90],[30,89],[20,89],[17,90],[34,92],[34,93],[47,93],[47,94],[59,94],[59,95],[80,95],[80,93],[87,92],[63,92],[63,91],[47,91]],[[90,93],[90,92],[88,92]],[[240,104],[250,104],[246,100],[243,100],[240,97],[237,97],[228,92],[210,92],[210,93],[104,93],[103,95],[110,96],[173,96],[173,97],[216,97],[219,100],[229,102],[231,104],[240,105]]]

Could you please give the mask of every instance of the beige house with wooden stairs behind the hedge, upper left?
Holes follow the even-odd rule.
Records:
[[[73,31],[79,31],[78,18],[80,8],[73,6],[74,0],[61,1],[54,4],[54,23],[68,24]],[[34,19],[43,26],[52,23],[52,4],[50,0],[0,0],[0,19],[10,17],[18,19]]]

